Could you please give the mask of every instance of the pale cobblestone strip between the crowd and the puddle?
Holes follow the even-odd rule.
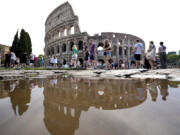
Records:
[[[0,80],[45,78],[52,75],[71,75],[89,79],[168,79],[180,81],[180,69],[130,70],[1,70]]]

